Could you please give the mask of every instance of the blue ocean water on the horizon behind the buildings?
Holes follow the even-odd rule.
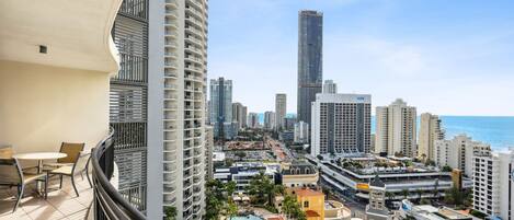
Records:
[[[287,117],[295,117],[295,114],[287,114]],[[259,114],[259,119],[262,124],[264,114]],[[446,139],[466,134],[473,140],[490,143],[493,150],[514,148],[514,117],[441,116],[441,119]],[[375,117],[372,117],[372,134],[375,134]]]

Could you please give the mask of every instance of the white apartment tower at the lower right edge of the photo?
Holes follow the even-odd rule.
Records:
[[[473,159],[473,209],[491,219],[514,218],[514,152]]]

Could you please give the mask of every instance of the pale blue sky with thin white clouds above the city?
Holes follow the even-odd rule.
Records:
[[[298,10],[323,12],[323,80],[418,112],[514,115],[514,1],[212,0],[208,78],[250,112],[296,113]]]

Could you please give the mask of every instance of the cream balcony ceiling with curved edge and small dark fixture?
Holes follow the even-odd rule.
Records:
[[[0,60],[115,72],[122,0],[1,0]],[[47,54],[39,53],[39,45]]]

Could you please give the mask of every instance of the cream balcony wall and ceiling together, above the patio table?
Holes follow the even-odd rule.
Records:
[[[122,0],[0,2],[0,146],[89,151],[108,131],[111,30]]]

